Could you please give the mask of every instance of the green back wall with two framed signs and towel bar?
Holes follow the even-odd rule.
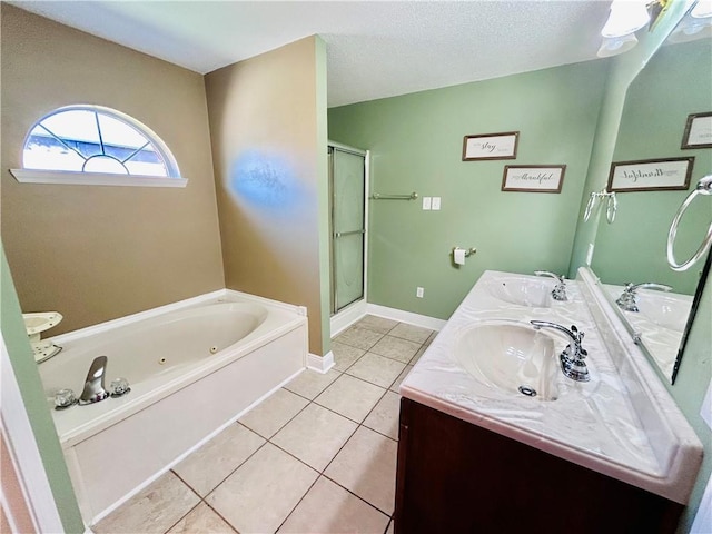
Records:
[[[446,319],[484,270],[568,271],[606,63],[586,62],[329,110],[329,138],[372,152],[368,301]],[[516,160],[462,161],[467,135],[520,131]],[[505,165],[567,166],[562,192],[504,192]],[[454,246],[476,247],[463,267]],[[416,298],[416,287],[425,298]]]

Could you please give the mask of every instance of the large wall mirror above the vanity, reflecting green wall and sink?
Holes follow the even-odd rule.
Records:
[[[693,32],[693,22],[705,26]],[[696,309],[695,296],[699,300],[712,258],[711,253],[706,261],[703,258],[689,270],[676,273],[665,256],[670,224],[678,209],[700,178],[712,174],[712,148],[681,148],[689,116],[712,111],[710,24],[711,19],[684,17],[630,85],[613,156],[614,164],[694,158],[689,186],[619,190],[615,220],[609,224],[605,212],[600,218],[591,265],[613,307],[671,383]],[[657,167],[654,164],[644,169]],[[676,258],[690,258],[698,250],[712,220],[711,200],[699,196],[685,211],[675,239]],[[656,283],[672,289],[641,288],[636,291],[639,310],[623,310],[615,301],[626,283]]]

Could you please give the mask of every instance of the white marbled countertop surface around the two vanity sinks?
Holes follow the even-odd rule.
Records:
[[[651,446],[631,383],[624,380],[601,338],[589,310],[581,281],[567,280],[567,301],[550,301],[550,307],[527,307],[495,298],[487,284],[554,280],[510,273],[486,271],[455,310],[417,365],[400,385],[400,394],[463,421],[546,451],[578,465],[681,501],[666,493],[670,458]],[[493,388],[467,373],[457,362],[455,344],[475,324],[505,319],[524,326],[532,319],[565,327],[576,325],[585,333],[583,347],[591,380],[576,383],[557,370],[558,395],[544,400]],[[568,338],[556,330],[556,354]],[[701,446],[701,445],[700,445]],[[674,453],[674,447],[671,448]],[[661,490],[662,488],[662,490]],[[683,492],[684,493],[684,492]],[[686,497],[684,497],[686,498]]]

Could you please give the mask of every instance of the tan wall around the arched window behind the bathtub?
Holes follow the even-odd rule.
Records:
[[[1,9],[1,230],[22,310],[60,312],[59,334],[225,287],[202,76]],[[72,103],[148,126],[188,186],[18,184],[29,128]]]

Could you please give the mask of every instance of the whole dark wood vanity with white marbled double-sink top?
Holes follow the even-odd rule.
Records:
[[[593,273],[553,289],[486,271],[400,385],[396,533],[675,531],[702,444]]]

